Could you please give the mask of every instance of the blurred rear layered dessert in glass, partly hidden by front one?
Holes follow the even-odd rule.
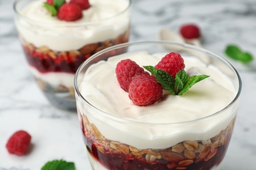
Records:
[[[72,0],[61,1],[64,6]],[[74,75],[83,61],[104,48],[129,41],[130,0],[89,3],[87,9],[79,9],[75,20],[68,18],[65,10],[62,16],[59,12],[52,16],[54,11],[45,7],[55,7],[51,0],[14,3],[16,29],[28,67],[47,99],[60,109],[76,109]]]

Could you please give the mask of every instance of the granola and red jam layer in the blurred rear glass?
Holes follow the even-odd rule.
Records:
[[[97,42],[93,44],[87,44],[79,50],[70,50],[66,52],[56,52],[49,49],[47,46],[35,47],[33,44],[24,41],[22,47],[25,52],[28,63],[35,67],[41,73],[48,72],[65,72],[75,73],[79,65],[85,61],[85,59],[91,57],[96,52],[113,46],[128,42],[129,30],[119,35],[116,39],[110,39],[104,42]]]

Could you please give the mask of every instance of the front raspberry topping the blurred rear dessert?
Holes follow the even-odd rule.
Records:
[[[82,17],[81,8],[74,3],[64,3],[58,9],[58,19],[65,21],[75,21]]]

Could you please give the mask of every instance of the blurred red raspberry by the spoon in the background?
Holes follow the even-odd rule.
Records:
[[[180,33],[185,39],[198,39],[200,37],[200,29],[194,24],[182,25]]]

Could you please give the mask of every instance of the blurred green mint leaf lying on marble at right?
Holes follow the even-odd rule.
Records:
[[[236,61],[241,61],[242,63],[249,63],[253,61],[253,56],[249,52],[243,52],[238,46],[234,44],[228,44],[224,52],[229,58],[232,58]]]

